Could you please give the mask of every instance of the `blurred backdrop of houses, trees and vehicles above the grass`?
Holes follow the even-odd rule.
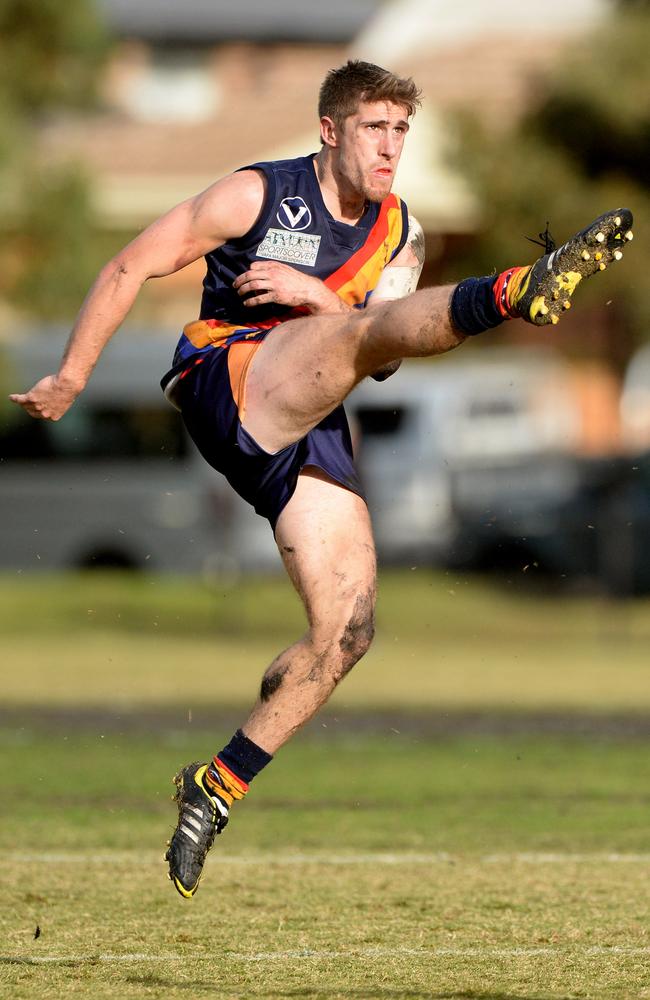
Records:
[[[558,331],[508,323],[353,395],[384,564],[650,591],[649,41],[632,0],[5,0],[0,568],[279,568],[158,390],[202,262],[148,283],[59,424],[6,394],[54,370],[97,269],[155,217],[315,150],[320,82],[359,57],[424,91],[396,182],[426,233],[421,284],[524,263],[547,226],[559,243],[612,207],[637,219]]]

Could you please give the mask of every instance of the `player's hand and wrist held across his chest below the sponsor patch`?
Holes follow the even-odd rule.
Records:
[[[245,306],[277,302],[282,306],[303,306],[311,313],[341,312],[347,306],[320,278],[297,271],[275,260],[254,260],[250,270],[235,278],[233,288]]]

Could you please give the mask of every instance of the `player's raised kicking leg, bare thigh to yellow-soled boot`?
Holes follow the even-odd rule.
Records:
[[[247,431],[262,448],[279,451],[396,358],[442,354],[516,317],[538,326],[557,323],[580,282],[622,258],[631,226],[631,212],[615,209],[532,265],[277,327],[250,367]]]

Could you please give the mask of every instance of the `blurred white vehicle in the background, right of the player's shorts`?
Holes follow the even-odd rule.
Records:
[[[469,347],[405,362],[386,382],[363,382],[346,408],[386,559],[455,561],[491,518],[546,531],[539,511],[577,488],[578,403],[550,351]]]

